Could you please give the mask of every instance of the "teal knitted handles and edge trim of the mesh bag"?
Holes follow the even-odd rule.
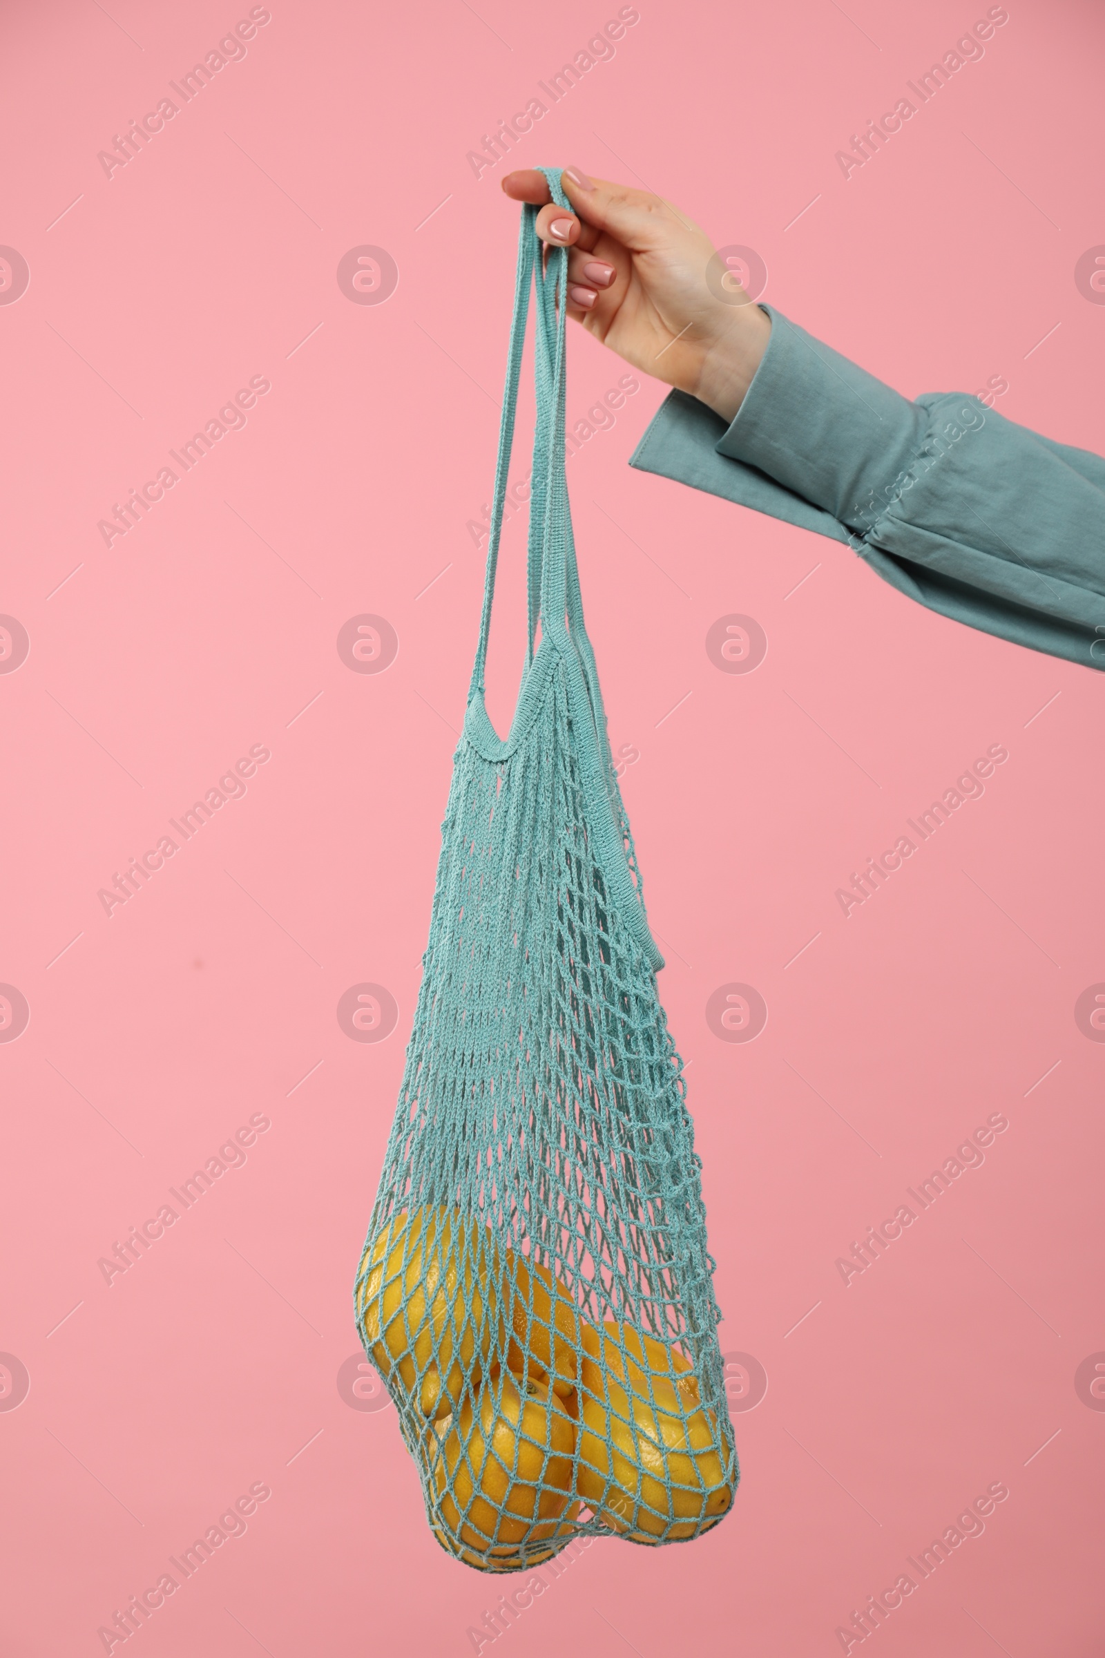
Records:
[[[548,179],[553,202],[558,207],[572,211],[572,204],[560,184],[560,169],[540,167],[538,171]],[[499,426],[495,491],[487,541],[484,607],[469,685],[466,734],[489,759],[505,758],[517,736],[524,731],[527,705],[532,701],[527,691],[540,678],[538,658],[542,650],[555,652],[565,662],[568,668],[572,713],[580,741],[583,797],[588,806],[588,827],[595,841],[595,856],[608,882],[611,900],[618,905],[620,914],[644,950],[653,970],[659,972],[664,958],[648,927],[636,865],[630,851],[628,826],[625,824],[621,802],[615,789],[606,710],[598,683],[595,652],[583,622],[583,597],[580,592],[575,536],[572,532],[572,509],[565,474],[568,249],[550,247],[548,257],[543,260],[545,244],[537,234],[537,212],[538,209],[530,202],[525,202],[522,207],[507,381]],[[514,449],[530,288],[537,290],[533,345],[537,418],[533,423],[533,468],[527,541],[528,643],[510,734],[505,739],[499,739],[484,706],[487,640],[495,597],[507,474]],[[538,622],[542,647],[535,652]]]

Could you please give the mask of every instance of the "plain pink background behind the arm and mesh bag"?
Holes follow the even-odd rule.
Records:
[[[353,1408],[371,1388],[338,1374],[482,584],[467,526],[517,209],[509,162],[477,179],[466,153],[616,10],[273,0],[247,56],[108,179],[98,151],[249,7],[5,8],[0,242],[30,267],[0,307],[0,610],[30,635],[0,675],[0,980],[30,1006],[0,1043],[0,1351],[30,1376],[0,1409],[12,1658],[103,1651],[98,1628],[252,1484],[272,1496],[245,1535],[133,1636],[147,1658],[461,1655],[515,1587],[437,1549],[394,1409]],[[641,0],[517,159],[646,182],[757,249],[784,315],[906,395],[997,376],[1001,413],[1102,453],[1105,308],[1074,280],[1105,242],[1102,17],[1009,12],[845,181],[835,151],[984,5]],[[338,285],[363,245],[398,265],[386,303]],[[570,418],[621,373],[573,330]],[[113,502],[250,376],[272,390],[247,426],[108,549]],[[722,1350],[769,1388],[741,1411],[734,1366],[722,1527],[593,1545],[482,1650],[840,1651],[853,1608],[1002,1482],[878,1650],[1088,1658],[1105,1414],[1075,1371],[1105,1348],[1105,1046],[1074,1008],[1105,980],[1102,681],[631,471],[663,390],[568,478],[611,741],[638,756],[623,788],[691,1063]],[[515,522],[499,725],[522,544]],[[769,640],[749,675],[704,648],[734,612]],[[361,613],[398,635],[383,673],[338,655]],[[984,797],[845,919],[835,889],[994,743]],[[272,758],[245,797],[108,917],[98,890],[252,744]],[[732,982],[767,1003],[752,1043],[706,1021]],[[384,1041],[338,1023],[361,983],[396,1000]],[[986,1162],[845,1285],[837,1258],[992,1113]],[[99,1258],[255,1114],[245,1166],[108,1285]]]

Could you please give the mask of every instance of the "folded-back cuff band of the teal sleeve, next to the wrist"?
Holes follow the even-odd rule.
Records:
[[[840,524],[870,524],[870,502],[906,471],[924,411],[774,305],[767,350],[744,401],[716,443]]]

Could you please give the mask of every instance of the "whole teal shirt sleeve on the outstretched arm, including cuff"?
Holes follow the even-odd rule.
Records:
[[[1105,459],[963,391],[914,403],[789,322],[731,426],[673,391],[630,466],[850,545],[984,633],[1105,668]]]

